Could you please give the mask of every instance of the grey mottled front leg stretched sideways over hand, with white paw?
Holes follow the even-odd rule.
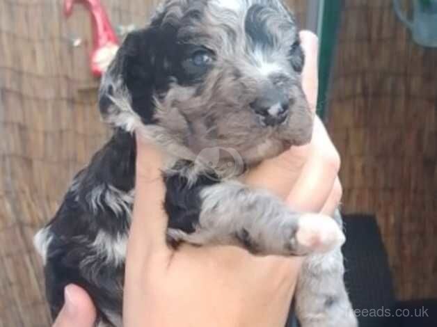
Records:
[[[239,244],[263,255],[324,253],[344,242],[330,218],[292,212],[275,196],[236,182],[205,186],[192,232],[171,228],[171,238],[191,244]]]

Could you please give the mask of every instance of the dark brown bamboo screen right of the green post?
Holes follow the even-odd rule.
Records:
[[[328,127],[345,212],[371,212],[397,296],[437,294],[437,50],[415,45],[391,0],[345,0]]]

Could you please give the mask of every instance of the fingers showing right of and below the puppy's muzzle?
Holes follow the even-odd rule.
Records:
[[[264,161],[251,172],[246,182],[270,189],[287,200],[296,211],[321,212],[330,216],[342,197],[338,178],[340,155],[320,118],[315,115],[318,91],[317,36],[302,31],[301,40],[306,54],[302,73],[303,90],[315,116],[312,141]]]

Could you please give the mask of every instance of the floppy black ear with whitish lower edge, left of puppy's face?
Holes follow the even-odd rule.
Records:
[[[154,61],[157,31],[129,33],[100,86],[100,112],[113,127],[133,131],[150,124],[154,115]]]

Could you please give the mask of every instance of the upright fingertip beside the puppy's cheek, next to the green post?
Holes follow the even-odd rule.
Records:
[[[310,109],[315,113],[319,92],[319,39],[310,31],[301,31],[301,45],[305,54],[305,65],[302,71],[302,87]]]

